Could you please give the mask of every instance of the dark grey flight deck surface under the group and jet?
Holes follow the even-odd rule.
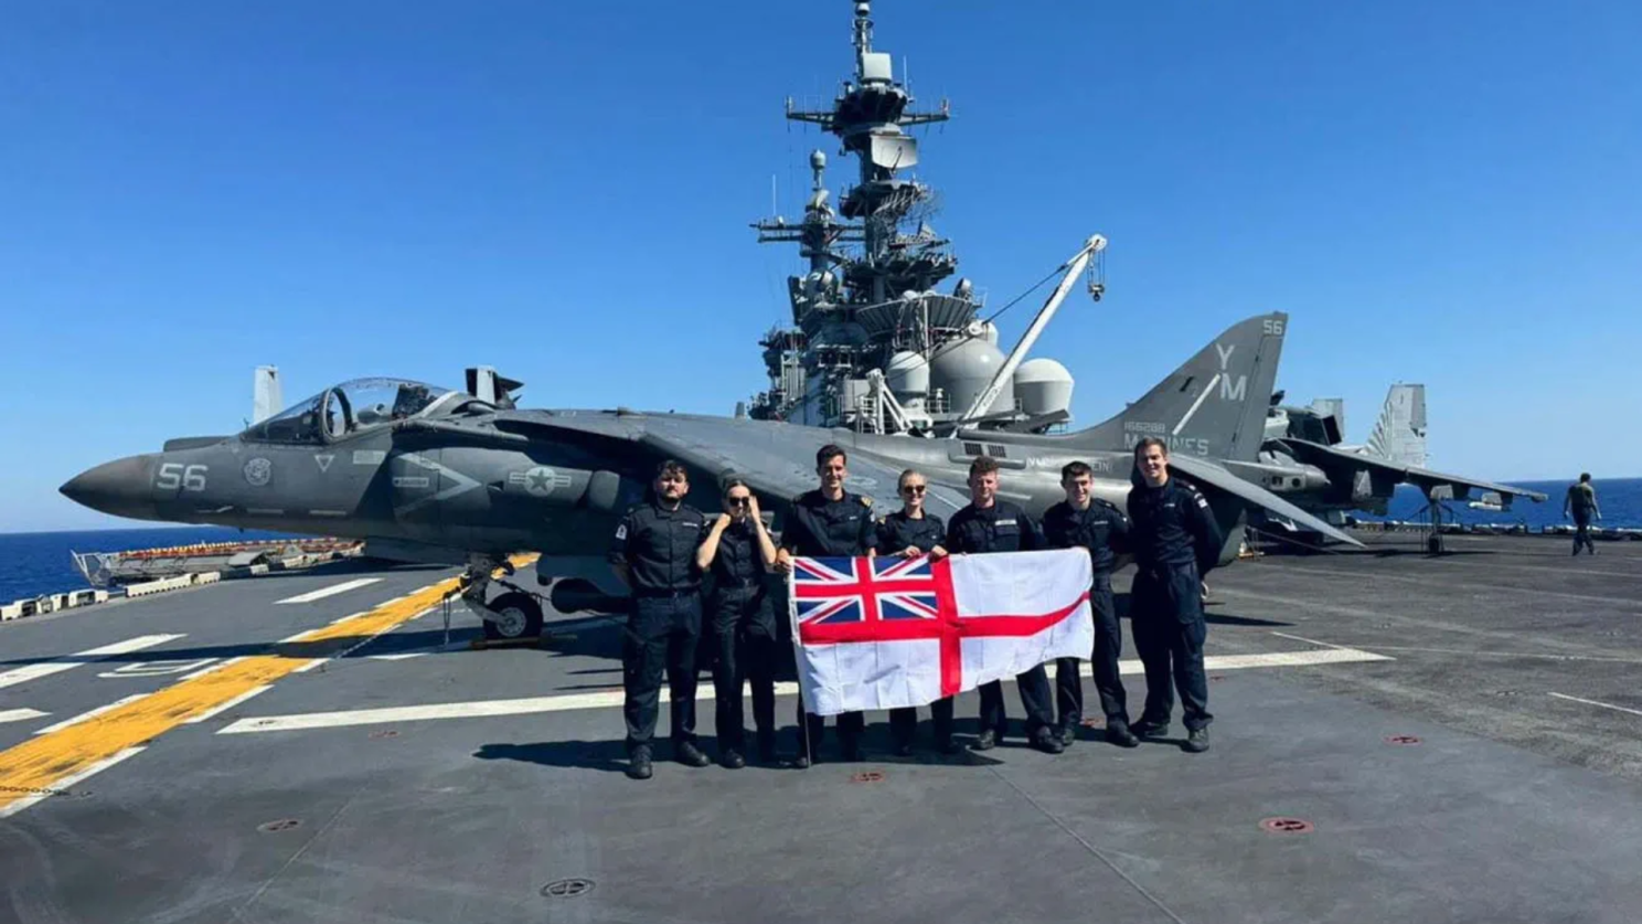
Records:
[[[875,714],[867,763],[662,760],[632,783],[612,625],[471,651],[471,617],[445,646],[425,615],[0,819],[0,921],[1642,921],[1642,543],[1570,559],[1562,539],[1460,538],[1432,559],[1412,536],[1368,539],[1389,544],[1210,575],[1210,656],[1387,659],[1212,669],[1205,755],[1090,730],[1061,756],[895,760]],[[7,623],[0,679],[179,638],[0,687],[0,714],[48,714],[0,723],[0,783],[7,753],[51,723],[448,574],[315,571]],[[360,577],[381,580],[276,603]],[[1125,681],[1138,707],[1144,682]],[[552,699],[578,694],[594,699]],[[548,699],[245,730],[522,697]],[[777,710],[790,750],[791,699]],[[962,735],[974,715],[965,695]],[[709,700],[699,717],[714,753]],[[852,779],[864,771],[882,779]],[[1268,834],[1273,817],[1314,830]],[[282,819],[299,824],[258,830]],[[540,893],[560,880],[591,889]]]

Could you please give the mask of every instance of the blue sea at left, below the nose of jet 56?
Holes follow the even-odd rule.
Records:
[[[123,552],[192,543],[289,539],[284,533],[228,526],[161,529],[90,529],[76,533],[0,533],[0,603],[89,587],[69,557],[76,552]]]

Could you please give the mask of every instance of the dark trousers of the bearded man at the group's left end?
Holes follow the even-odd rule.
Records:
[[[627,751],[649,748],[662,700],[662,671],[672,697],[673,743],[696,740],[696,641],[701,594],[639,595],[622,640],[622,689]]]

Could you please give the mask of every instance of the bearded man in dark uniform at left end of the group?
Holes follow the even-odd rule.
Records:
[[[696,640],[701,635],[701,569],[696,546],[706,516],[685,503],[690,477],[668,459],[655,470],[652,495],[616,528],[609,561],[632,589],[634,612],[622,643],[627,718],[627,776],[650,778],[650,737],[662,697],[662,668],[672,694],[673,756],[706,766],[696,746]]]

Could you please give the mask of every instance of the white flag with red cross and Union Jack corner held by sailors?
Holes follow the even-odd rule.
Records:
[[[1089,658],[1084,549],[793,559],[788,615],[814,715],[924,705],[1056,658]]]

